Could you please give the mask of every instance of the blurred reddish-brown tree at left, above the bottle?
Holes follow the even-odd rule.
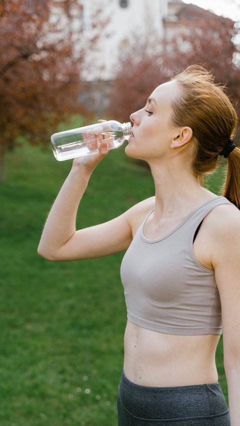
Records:
[[[106,18],[95,9],[84,30],[82,9],[75,0],[0,1],[0,180],[21,136],[48,144],[60,121],[86,112],[81,76]]]

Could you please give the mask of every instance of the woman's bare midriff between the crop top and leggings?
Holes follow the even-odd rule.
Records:
[[[215,350],[219,335],[176,335],[127,321],[124,373],[143,386],[186,386],[217,381]]]

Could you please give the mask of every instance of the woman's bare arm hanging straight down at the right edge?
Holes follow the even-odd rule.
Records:
[[[219,206],[213,225],[212,264],[221,312],[224,368],[231,426],[240,424],[240,211]],[[219,209],[218,207],[218,209]]]

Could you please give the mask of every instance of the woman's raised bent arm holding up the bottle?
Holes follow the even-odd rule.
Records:
[[[52,261],[100,257],[125,250],[154,199],[148,198],[105,223],[76,230],[79,202],[95,166],[107,153],[102,142],[99,154],[76,158],[45,222],[38,254]]]

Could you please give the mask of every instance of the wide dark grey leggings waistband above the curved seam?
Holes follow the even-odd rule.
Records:
[[[184,386],[144,386],[129,380],[122,371],[119,398],[124,408],[139,418],[205,418],[228,412],[218,381]]]

